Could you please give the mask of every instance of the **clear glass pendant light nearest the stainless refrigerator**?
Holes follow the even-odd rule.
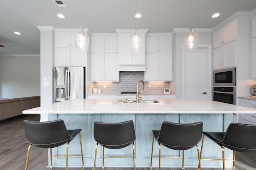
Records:
[[[75,46],[76,49],[81,51],[87,51],[89,47],[89,36],[83,31],[83,2],[81,0],[81,31],[75,33]]]

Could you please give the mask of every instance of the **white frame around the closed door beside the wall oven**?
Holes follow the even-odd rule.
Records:
[[[212,45],[211,44],[199,44],[198,49],[206,49],[206,93],[208,94],[206,99],[212,100]],[[185,49],[184,45],[182,45],[182,98],[185,98]]]

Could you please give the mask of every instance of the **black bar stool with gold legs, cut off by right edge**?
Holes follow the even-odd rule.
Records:
[[[222,149],[222,159],[201,158],[201,160],[222,160],[223,170],[225,170],[225,160],[233,162],[235,166],[236,151],[256,152],[256,125],[246,125],[241,123],[230,123],[226,132],[203,132],[202,149],[204,136],[218,144]],[[233,160],[225,159],[224,148],[233,150]]]

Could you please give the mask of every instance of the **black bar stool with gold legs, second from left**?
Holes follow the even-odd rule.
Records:
[[[98,144],[103,147],[102,170],[104,170],[104,158],[106,157],[133,157],[133,166],[135,168],[134,141],[136,139],[133,121],[120,123],[102,123],[94,122],[94,140],[96,141],[94,170],[96,168],[96,157]],[[132,156],[105,156],[104,148],[122,149],[132,144]]]

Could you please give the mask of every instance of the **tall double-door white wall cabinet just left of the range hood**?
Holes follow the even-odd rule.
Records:
[[[91,81],[119,81],[117,53],[91,53]]]

